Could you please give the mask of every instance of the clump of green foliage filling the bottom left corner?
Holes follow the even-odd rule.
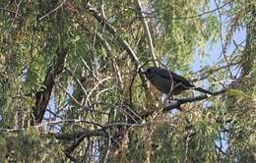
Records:
[[[17,134],[7,133],[1,136],[0,146],[1,162],[59,162],[63,155],[62,147],[54,136],[47,136],[34,129]]]

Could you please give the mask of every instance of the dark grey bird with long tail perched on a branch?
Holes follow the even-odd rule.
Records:
[[[202,87],[196,87],[185,78],[159,67],[149,67],[145,72],[142,72],[146,78],[160,92],[168,95],[178,95],[183,90],[195,89],[197,91],[213,95],[213,92]]]

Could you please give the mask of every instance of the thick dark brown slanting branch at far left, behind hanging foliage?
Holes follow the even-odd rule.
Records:
[[[55,84],[54,81],[63,71],[67,49],[58,48],[56,54],[57,59],[54,67],[48,69],[46,78],[42,83],[43,86],[35,93],[35,105],[32,107],[32,125],[39,124],[42,121],[50,99],[51,91]]]

